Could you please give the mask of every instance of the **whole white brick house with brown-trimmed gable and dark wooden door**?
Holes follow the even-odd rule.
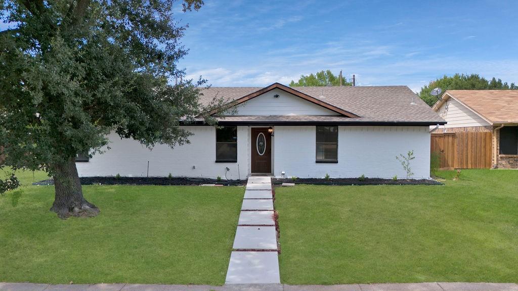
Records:
[[[221,128],[196,120],[182,125],[193,133],[190,144],[152,151],[112,134],[109,151],[77,163],[80,176],[404,178],[396,156],[413,150],[413,177],[429,178],[429,126],[445,123],[407,86],[274,83],[202,92],[204,104],[216,96],[234,102],[233,115],[217,117]]]

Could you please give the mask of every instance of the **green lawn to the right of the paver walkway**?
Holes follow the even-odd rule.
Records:
[[[276,188],[288,284],[518,282],[518,171],[444,186]]]

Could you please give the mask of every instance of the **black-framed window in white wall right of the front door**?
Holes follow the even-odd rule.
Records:
[[[316,126],[316,163],[338,163],[338,126]]]

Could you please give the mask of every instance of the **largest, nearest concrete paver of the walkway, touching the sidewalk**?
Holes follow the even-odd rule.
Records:
[[[232,252],[226,284],[280,283],[277,252]]]

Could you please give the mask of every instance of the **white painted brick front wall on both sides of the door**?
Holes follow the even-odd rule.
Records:
[[[134,140],[121,140],[110,135],[111,149],[96,155],[90,162],[77,163],[79,175],[146,177],[147,163],[150,177],[166,177],[169,173],[182,177],[244,179],[250,165],[250,129],[238,126],[238,163],[215,163],[215,128],[185,126],[194,133],[191,144],[175,149],[156,146],[152,151]],[[428,178],[430,164],[430,134],[427,126],[340,126],[338,133],[338,164],[315,163],[315,126],[275,126],[272,155],[273,171],[286,177],[366,177],[391,178],[406,173],[396,155],[413,150],[414,178]],[[238,165],[240,173],[238,174]],[[192,169],[196,166],[196,169]]]

